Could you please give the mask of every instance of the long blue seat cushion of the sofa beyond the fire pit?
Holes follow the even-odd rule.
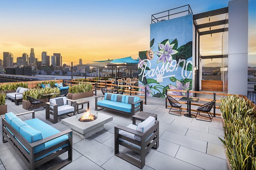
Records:
[[[128,103],[114,102],[110,100],[101,100],[97,102],[97,105],[131,113],[131,104],[128,104]]]

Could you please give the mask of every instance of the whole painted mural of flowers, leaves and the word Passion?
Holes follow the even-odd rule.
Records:
[[[178,46],[177,39],[169,40],[165,39],[162,42],[154,45],[154,39],[150,42],[150,50],[139,52],[139,64],[138,64],[138,74],[139,74],[139,86],[145,88],[139,88],[139,95],[153,96],[165,98],[166,91],[168,89],[189,91],[192,90],[192,79],[191,74],[192,64],[188,61],[192,61],[192,41],[187,42],[181,46]],[[153,52],[153,49],[158,48]],[[148,57],[149,51],[152,51],[156,56]],[[157,57],[158,56],[158,57]],[[165,72],[165,76],[160,81],[157,78],[157,74],[161,70],[163,65],[166,63],[171,64],[173,60],[177,59],[177,56],[183,57],[183,62],[179,62],[179,65],[174,71]],[[162,63],[161,63],[162,62]],[[176,61],[177,63],[177,61]],[[165,67],[163,67],[164,70]],[[183,76],[183,72],[187,75]],[[146,76],[145,76],[146,75]],[[169,78],[169,79],[168,79]],[[145,92],[146,90],[146,92]],[[181,91],[167,91],[168,94],[177,96],[186,96],[186,92]],[[189,93],[192,96],[192,93]]]

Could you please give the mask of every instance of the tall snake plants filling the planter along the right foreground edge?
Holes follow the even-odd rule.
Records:
[[[223,142],[234,170],[256,170],[256,117],[251,104],[239,96],[221,98],[225,122]]]

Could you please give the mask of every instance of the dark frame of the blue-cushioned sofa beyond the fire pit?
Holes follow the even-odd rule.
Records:
[[[102,95],[102,96],[95,96],[95,109],[96,111],[100,111],[102,109],[108,109],[108,110],[111,110],[111,111],[116,111],[116,112],[119,112],[119,113],[123,113],[123,114],[127,114],[127,115],[131,115],[131,116],[134,116],[135,113],[139,112],[139,111],[143,111],[143,100],[139,100],[137,102],[133,102],[131,103],[131,113],[129,112],[125,112],[125,111],[119,111],[119,110],[116,110],[116,109],[113,109],[113,108],[108,108],[108,107],[104,107],[104,106],[100,106],[100,105],[97,105],[97,102],[98,102],[98,98],[101,97],[103,99],[105,95]],[[137,105],[135,106],[137,103],[140,103],[140,105]],[[102,109],[98,109],[99,108],[102,108]],[[138,109],[140,108],[140,109]],[[136,110],[137,109],[137,110]]]

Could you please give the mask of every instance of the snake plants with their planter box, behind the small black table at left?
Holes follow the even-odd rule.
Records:
[[[29,109],[29,106],[31,105],[30,102],[28,101],[26,96],[30,96],[34,99],[38,99],[41,102],[44,102],[43,105],[45,106],[45,103],[48,102],[47,96],[42,96],[41,94],[50,94],[50,93],[60,93],[59,88],[34,88],[30,89],[28,91],[24,91],[23,93],[23,100],[22,100],[22,108],[25,110]],[[58,96],[52,95],[52,97]]]

